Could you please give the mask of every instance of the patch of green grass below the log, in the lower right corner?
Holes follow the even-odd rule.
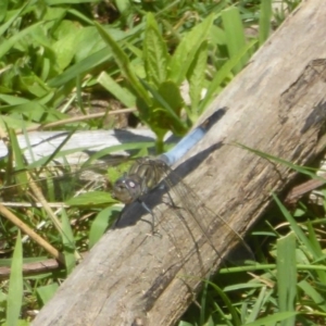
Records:
[[[192,305],[188,324],[179,325],[325,324],[325,218],[302,209],[291,214],[274,199],[277,206],[264,218],[275,224],[261,222],[249,239],[256,242],[256,264],[221,269],[202,292],[201,309]]]

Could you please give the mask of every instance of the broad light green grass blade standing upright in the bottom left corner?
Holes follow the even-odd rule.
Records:
[[[17,234],[16,244],[12,258],[7,301],[7,325],[16,326],[23,304],[23,248],[21,231]]]

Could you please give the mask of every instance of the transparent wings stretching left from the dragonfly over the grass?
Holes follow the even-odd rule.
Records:
[[[53,164],[38,170],[26,167],[11,173],[10,178],[3,171],[1,176],[5,183],[0,188],[0,196],[3,202],[21,202],[22,198],[33,200],[29,191],[33,180],[49,202],[61,202],[89,189],[106,189],[110,183],[108,167],[125,162],[128,164],[125,168],[129,168],[131,161],[118,158],[89,165]],[[116,173],[121,174],[121,171],[117,168]]]

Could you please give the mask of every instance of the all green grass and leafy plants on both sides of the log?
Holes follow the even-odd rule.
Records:
[[[35,167],[52,175],[48,163],[67,154],[59,147],[49,158],[28,166],[15,134],[50,123],[57,123],[52,129],[72,133],[108,127],[103,118],[91,116],[99,100],[108,103],[104,116],[114,109],[137,108],[135,115],[156,135],[156,152],[164,151],[165,134],[185,135],[300,1],[279,1],[277,10],[272,10],[275,2],[124,0],[110,5],[96,1],[54,5],[54,1],[2,1],[0,128],[9,135],[10,154],[0,164],[7,171],[3,183],[18,184],[7,188],[13,192],[3,192],[2,199],[15,196],[16,201],[27,202],[34,192],[41,201],[37,190],[26,189],[26,181],[38,177]],[[185,80],[188,102],[180,92]],[[72,108],[91,118],[72,122]],[[114,123],[110,120],[109,127]],[[141,155],[150,146],[124,148],[138,149]],[[105,149],[93,159],[118,149]],[[280,159],[255,154],[314,175]],[[14,170],[20,171],[15,180]],[[1,283],[1,324],[28,324],[29,312],[48,302],[58,289],[57,280],[73,271],[80,253],[111,225],[108,216],[116,215],[120,208],[112,205],[115,201],[105,191],[98,192],[102,185],[96,187],[97,192],[75,198],[71,192],[75,187],[58,191],[55,178],[49,177],[47,199],[70,203],[61,209],[59,218],[47,203],[42,209],[12,209],[14,217],[1,210],[7,218],[1,218],[0,265],[12,268],[10,279]],[[66,197],[59,199],[58,192]],[[312,213],[314,206],[300,203],[291,214],[276,197],[275,203],[278,210],[267,212],[266,218],[273,223],[262,222],[248,239],[256,249],[256,264],[224,268],[206,281],[198,299],[201,308],[191,305],[179,325],[326,323],[326,267],[321,244],[324,210]],[[39,238],[34,238],[34,229]],[[22,276],[22,263],[45,263],[47,254],[64,261],[65,267]]]

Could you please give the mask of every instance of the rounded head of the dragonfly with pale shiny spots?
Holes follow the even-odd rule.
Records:
[[[141,183],[137,177],[130,175],[123,176],[114,183],[111,196],[112,198],[128,204],[138,199],[141,193]]]

